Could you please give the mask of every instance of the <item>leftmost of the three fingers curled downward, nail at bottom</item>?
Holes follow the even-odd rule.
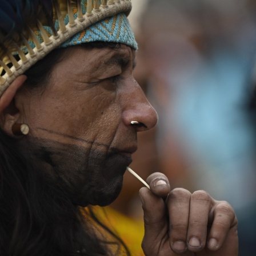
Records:
[[[177,254],[181,254],[187,249],[190,197],[191,193],[185,189],[174,189],[167,197],[170,219],[170,246]]]

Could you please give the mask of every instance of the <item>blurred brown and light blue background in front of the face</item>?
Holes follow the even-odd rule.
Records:
[[[132,2],[139,46],[134,77],[159,122],[139,134],[131,167],[143,179],[161,171],[173,188],[203,189],[228,201],[239,221],[239,255],[255,256],[256,1]],[[141,186],[127,173],[111,206],[135,223],[138,243]]]

